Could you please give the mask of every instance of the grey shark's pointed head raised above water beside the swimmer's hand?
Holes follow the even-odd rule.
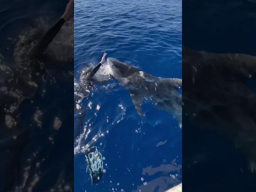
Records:
[[[109,57],[107,62],[115,78],[126,78],[139,71],[136,67],[125,64],[115,58]]]

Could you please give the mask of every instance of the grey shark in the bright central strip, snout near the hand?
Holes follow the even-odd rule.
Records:
[[[140,69],[120,62],[115,58],[107,59],[112,76],[128,89],[136,111],[142,114],[141,104],[150,100],[156,108],[173,115],[182,127],[182,79],[156,77]]]

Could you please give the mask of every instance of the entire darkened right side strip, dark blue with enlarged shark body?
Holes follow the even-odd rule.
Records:
[[[182,1],[184,192],[255,191],[256,1]]]

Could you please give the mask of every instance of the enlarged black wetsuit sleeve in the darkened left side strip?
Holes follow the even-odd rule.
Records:
[[[61,18],[48,32],[38,41],[31,51],[32,56],[37,56],[42,54],[47,46],[52,42],[53,38],[59,32],[60,28],[66,20]]]

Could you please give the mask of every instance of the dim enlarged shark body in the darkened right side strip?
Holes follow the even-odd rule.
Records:
[[[256,172],[256,56],[183,47],[182,70],[183,114],[232,140]]]

